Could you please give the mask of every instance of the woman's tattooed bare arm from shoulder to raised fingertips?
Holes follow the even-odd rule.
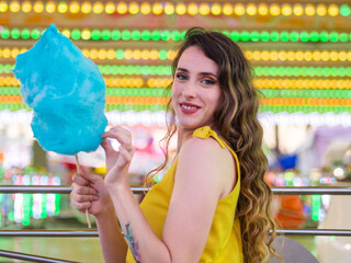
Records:
[[[234,182],[230,153],[212,139],[193,138],[183,146],[179,155],[163,237],[159,239],[127,184],[126,168],[133,152],[127,150],[131,141],[123,133],[117,129],[103,136],[121,142],[121,161],[107,173],[105,185],[136,262],[199,262],[217,202],[228,183],[231,187]],[[105,150],[110,151],[106,147],[105,145]]]

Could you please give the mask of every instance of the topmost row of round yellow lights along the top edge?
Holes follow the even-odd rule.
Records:
[[[260,16],[349,16],[348,3],[268,3],[268,2],[137,2],[137,1],[0,1],[0,13],[83,13],[83,14],[155,14],[155,15],[260,15]]]

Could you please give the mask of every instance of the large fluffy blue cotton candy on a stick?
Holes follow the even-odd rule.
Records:
[[[18,55],[14,76],[33,108],[32,129],[48,151],[76,155],[101,144],[105,83],[97,65],[50,25],[38,42]]]

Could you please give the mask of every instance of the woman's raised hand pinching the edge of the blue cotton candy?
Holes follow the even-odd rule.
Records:
[[[121,126],[113,126],[109,132],[101,135],[104,140],[101,146],[105,150],[107,174],[105,185],[112,186],[127,183],[127,174],[134,155],[132,133]],[[121,146],[114,150],[107,139],[116,139]]]

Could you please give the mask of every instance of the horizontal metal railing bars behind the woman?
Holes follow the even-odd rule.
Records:
[[[46,185],[0,185],[0,193],[48,193],[69,194],[71,186],[46,186]],[[131,187],[134,194],[144,194],[148,188]],[[272,187],[274,195],[351,195],[351,187],[304,186],[304,187]],[[351,237],[351,229],[278,229],[278,235],[290,236],[341,236]],[[0,237],[99,237],[95,230],[0,230]],[[31,262],[71,262],[53,258],[45,258],[19,252],[0,250],[0,256],[25,260]]]

